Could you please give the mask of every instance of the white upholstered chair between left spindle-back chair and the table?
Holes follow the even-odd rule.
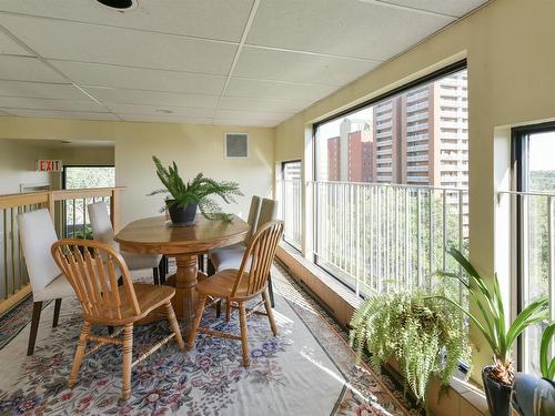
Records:
[[[164,283],[164,278],[160,282],[162,268],[160,266],[161,255],[157,254],[135,254],[120,251],[120,245],[113,240],[113,229],[108,214],[108,205],[105,202],[94,202],[87,206],[89,217],[91,220],[92,235],[94,240],[108,244],[118,252],[125,261],[130,271],[152,268],[154,284]],[[162,273],[163,274],[163,273]]]

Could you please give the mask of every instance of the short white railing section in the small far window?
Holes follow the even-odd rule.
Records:
[[[283,240],[297,250],[302,245],[302,182],[300,180],[281,181],[282,220],[285,223]]]

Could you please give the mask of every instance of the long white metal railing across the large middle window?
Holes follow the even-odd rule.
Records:
[[[458,270],[446,248],[466,251],[466,190],[309,182],[307,192],[317,262],[356,294],[431,288],[437,270]]]

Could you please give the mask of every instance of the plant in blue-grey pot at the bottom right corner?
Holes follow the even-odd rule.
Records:
[[[521,416],[555,415],[555,357],[551,357],[549,344],[554,341],[555,322],[542,334],[539,344],[539,372],[542,378],[516,373],[511,404]]]

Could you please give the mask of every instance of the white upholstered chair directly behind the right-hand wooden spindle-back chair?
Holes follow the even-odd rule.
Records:
[[[253,196],[253,200],[254,197],[258,196]],[[251,210],[252,210],[252,204],[251,204]],[[251,215],[249,214],[249,217]],[[262,227],[263,225],[268,224],[271,221],[274,221],[276,217],[278,217],[278,201],[263,199],[262,203],[260,204],[260,213],[258,214],[258,220],[254,222],[254,224],[256,225],[254,226],[254,230],[249,235],[249,237],[245,239],[245,242],[232,245],[230,247],[210,252],[210,262],[212,263],[215,272],[220,273],[224,270],[232,270],[232,268],[239,270],[239,267],[241,266],[241,262],[243,260],[244,252],[246,250],[246,244],[250,243],[251,236],[254,235],[254,232],[258,231],[260,227]],[[268,280],[268,290],[270,293],[270,303],[273,307],[274,294],[272,288],[272,277],[270,274]]]

